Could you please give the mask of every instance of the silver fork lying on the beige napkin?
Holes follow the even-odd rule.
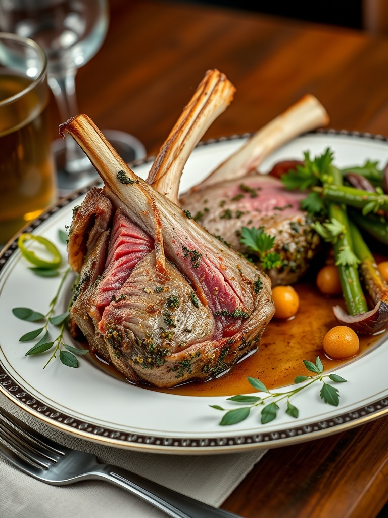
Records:
[[[0,453],[13,466],[46,484],[61,486],[102,479],[142,498],[172,518],[242,518],[176,493],[135,473],[101,464],[95,455],[71,450],[44,437],[1,408],[0,439]]]

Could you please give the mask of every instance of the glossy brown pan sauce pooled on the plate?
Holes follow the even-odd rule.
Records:
[[[381,340],[382,335],[360,336],[360,350],[353,358],[333,360],[323,351],[323,337],[329,329],[338,325],[333,306],[345,308],[342,296],[322,295],[311,282],[294,285],[300,298],[299,311],[290,320],[273,318],[259,342],[257,352],[246,357],[218,378],[206,382],[190,381],[171,389],[142,385],[145,389],[184,396],[233,396],[254,392],[247,376],[259,378],[268,389],[292,384],[296,376],[309,376],[303,360],[322,360],[324,371],[335,370],[342,364],[354,361]],[[111,376],[127,381],[113,366],[87,355],[93,363]]]

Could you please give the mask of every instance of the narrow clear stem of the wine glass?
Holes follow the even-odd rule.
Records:
[[[59,110],[59,117],[66,122],[71,117],[78,115],[78,104],[76,97],[76,74],[77,69],[66,70],[61,76],[49,75],[48,83],[56,99]],[[91,162],[82,151],[77,142],[67,133],[65,134],[65,169],[69,173],[77,173],[91,168]]]

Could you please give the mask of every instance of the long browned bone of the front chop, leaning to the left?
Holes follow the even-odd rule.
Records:
[[[217,238],[209,234],[192,219],[188,219],[180,208],[170,202],[166,196],[155,191],[139,178],[120,155],[112,148],[93,121],[81,114],[60,126],[60,132],[67,131],[79,143],[104,181],[102,189],[111,200],[114,209],[121,207],[128,216],[135,219],[140,228],[155,240],[155,252],[160,275],[165,274],[165,253],[168,250],[172,260],[194,286],[200,289],[201,281],[197,278],[199,269],[193,270],[182,258],[182,246],[192,250],[193,243],[200,243],[203,257],[210,260],[215,257],[218,264],[222,255],[222,271],[228,271],[228,281],[236,292],[243,291],[245,302],[251,299],[251,286],[241,283],[241,271],[246,279],[253,282],[258,272],[250,264],[239,263],[239,256]],[[236,261],[237,259],[237,261]],[[231,273],[232,272],[232,273]],[[262,281],[267,284],[267,280]],[[249,295],[248,295],[249,293]],[[250,307],[250,310],[252,306]]]

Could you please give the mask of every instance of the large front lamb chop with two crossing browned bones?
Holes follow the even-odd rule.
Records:
[[[180,132],[195,146],[203,120],[210,123],[214,106],[225,109],[234,92],[218,71],[199,89],[185,109],[197,116],[186,114],[170,134],[171,156],[185,140]],[[74,212],[68,242],[69,263],[80,272],[71,318],[91,349],[128,380],[161,387],[217,376],[255,350],[274,313],[270,279],[188,219],[173,196],[138,178],[88,117],[69,120],[64,131],[105,183]],[[155,163],[175,162],[159,153]],[[162,172],[163,191],[171,184]]]

